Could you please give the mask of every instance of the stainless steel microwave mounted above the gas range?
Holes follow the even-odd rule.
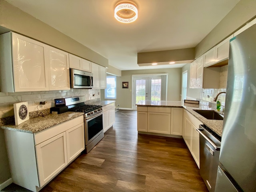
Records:
[[[93,74],[77,69],[70,69],[71,88],[93,88]]]

